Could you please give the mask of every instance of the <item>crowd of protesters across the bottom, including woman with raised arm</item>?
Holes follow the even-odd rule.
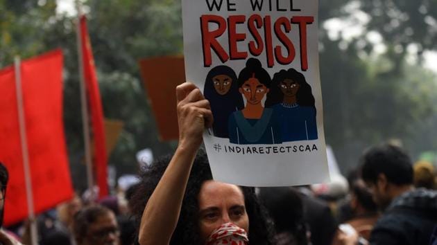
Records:
[[[176,93],[180,138],[174,154],[146,167],[139,183],[117,196],[94,202],[76,195],[39,215],[38,244],[437,244],[431,163],[413,165],[404,149],[386,143],[357,157],[357,170],[335,194],[311,186],[251,188],[214,181],[200,147],[214,120],[209,102],[188,82]],[[3,165],[0,181],[3,212]],[[0,232],[1,244],[30,239],[28,222]]]

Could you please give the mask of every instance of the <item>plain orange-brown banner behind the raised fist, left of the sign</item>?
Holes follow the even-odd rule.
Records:
[[[176,86],[185,82],[184,57],[153,57],[139,61],[146,92],[155,114],[160,140],[178,139]]]

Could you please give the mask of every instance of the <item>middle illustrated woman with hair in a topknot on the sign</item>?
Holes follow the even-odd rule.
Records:
[[[280,125],[273,116],[273,109],[264,108],[262,105],[270,84],[270,75],[262,68],[261,62],[250,58],[238,77],[239,92],[246,98],[246,107],[229,117],[230,143],[282,143]]]

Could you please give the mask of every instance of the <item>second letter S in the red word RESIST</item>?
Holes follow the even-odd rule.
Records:
[[[282,56],[282,48],[278,45],[275,46],[275,56],[277,62],[279,62],[280,64],[290,64],[291,62],[293,62],[296,53],[293,43],[291,42],[289,37],[287,37],[282,31],[281,26],[284,26],[285,32],[289,33],[291,31],[291,24],[289,19],[287,19],[286,17],[280,17],[275,21],[275,34],[280,42],[284,44],[288,55],[286,57]]]

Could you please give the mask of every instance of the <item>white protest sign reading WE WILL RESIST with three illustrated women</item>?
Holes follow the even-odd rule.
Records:
[[[182,1],[187,80],[214,116],[214,179],[238,185],[329,181],[317,0]]]

